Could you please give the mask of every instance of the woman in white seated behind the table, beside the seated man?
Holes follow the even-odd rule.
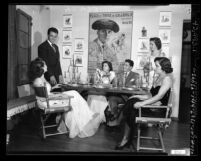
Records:
[[[112,63],[109,61],[102,62],[102,70],[97,69],[95,77],[102,85],[112,84],[115,80],[115,72],[112,69]],[[87,102],[93,112],[99,113],[100,122],[105,122],[104,111],[108,106],[108,101],[104,93],[89,94]]]

